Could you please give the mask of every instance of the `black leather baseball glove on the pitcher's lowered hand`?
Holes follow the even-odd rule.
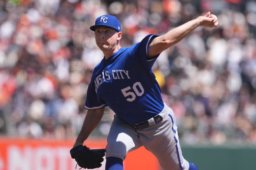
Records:
[[[90,149],[85,145],[78,145],[70,150],[70,155],[81,168],[94,169],[101,166],[105,152],[105,149]]]

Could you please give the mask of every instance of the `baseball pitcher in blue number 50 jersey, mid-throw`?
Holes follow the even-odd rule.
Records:
[[[151,67],[159,54],[182,40],[198,26],[216,27],[217,17],[207,12],[162,36],[150,34],[131,47],[121,47],[121,24],[115,16],[102,15],[90,29],[103,52],[87,89],[88,109],[82,129],[70,150],[78,166],[101,166],[106,154],[106,170],[123,170],[128,152],[144,146],[164,170],[198,170],[183,158],[176,119],[162,100]],[[84,141],[99,124],[104,108],[114,112],[105,149],[90,150]]]

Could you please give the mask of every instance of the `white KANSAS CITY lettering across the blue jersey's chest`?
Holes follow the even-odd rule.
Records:
[[[112,74],[109,74],[108,70],[105,71],[105,72],[102,71],[102,74],[100,74],[99,76],[97,76],[94,79],[94,86],[95,86],[95,92],[96,93],[97,93],[97,90],[98,90],[99,86],[103,82],[110,80],[110,76],[112,76],[112,78],[114,80],[116,80],[116,79],[125,79],[125,78],[130,79],[128,70],[112,70]]]

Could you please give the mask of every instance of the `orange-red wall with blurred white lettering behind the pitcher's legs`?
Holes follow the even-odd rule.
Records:
[[[73,140],[0,138],[0,170],[75,170],[69,150]],[[91,149],[105,148],[105,140],[88,140]],[[77,167],[76,169],[79,169]],[[105,169],[105,158],[102,166]],[[159,170],[157,159],[144,147],[127,154],[125,170]]]

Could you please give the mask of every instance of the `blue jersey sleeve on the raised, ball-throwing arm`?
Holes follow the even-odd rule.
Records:
[[[155,63],[157,57],[160,55],[156,55],[153,58],[148,59],[148,46],[150,44],[150,41],[152,41],[154,38],[158,37],[159,35],[155,34],[149,34],[147,35],[143,40],[141,40],[139,43],[135,44],[135,47],[133,49],[133,55],[138,57],[139,62],[141,65],[143,65],[148,71],[151,70],[153,64]]]

